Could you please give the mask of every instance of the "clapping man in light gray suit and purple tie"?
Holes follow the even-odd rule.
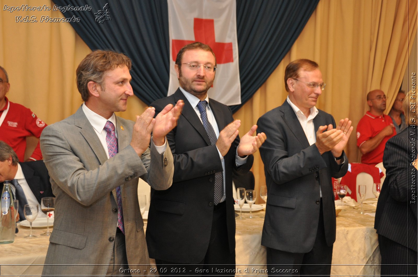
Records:
[[[41,135],[56,196],[44,275],[146,274],[140,266],[149,258],[138,177],[157,190],[171,186],[173,156],[165,135],[183,103],[167,105],[156,118],[155,109],[147,108],[135,124],[115,116],[133,95],[130,68],[121,53],[87,55],[76,71],[84,103]]]

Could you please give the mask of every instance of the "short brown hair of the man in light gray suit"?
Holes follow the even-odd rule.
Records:
[[[103,76],[106,71],[115,69],[117,66],[124,66],[130,70],[132,61],[127,55],[111,50],[94,50],[87,55],[79,64],[76,70],[77,88],[84,102],[89,100],[90,93],[87,83],[93,81],[103,87]]]

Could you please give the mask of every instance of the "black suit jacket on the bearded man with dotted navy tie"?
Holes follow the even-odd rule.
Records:
[[[165,191],[151,191],[146,239],[151,258],[174,263],[201,262],[209,245],[214,209],[215,173],[222,172],[222,163],[215,145],[211,145],[203,124],[184,94],[176,93],[155,101],[156,114],[167,104],[184,101],[177,126],[167,140],[174,158],[173,185]],[[233,121],[231,110],[210,99],[219,131]],[[239,138],[232,143],[225,159],[225,194],[229,250],[235,249],[235,212],[232,197],[232,172],[250,170],[253,156],[237,167],[235,154]]]

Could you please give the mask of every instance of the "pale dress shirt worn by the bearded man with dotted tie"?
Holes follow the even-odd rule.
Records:
[[[200,111],[199,111],[199,108],[197,107],[197,104],[199,103],[200,99],[197,98],[196,96],[194,96],[193,94],[188,93],[182,87],[180,87],[180,90],[184,94],[184,96],[187,98],[187,100],[189,101],[191,106],[194,108],[194,111],[196,112],[197,117],[199,117],[200,121],[202,122],[202,119],[200,117]],[[215,131],[216,137],[218,138],[219,137],[218,123],[215,120],[212,109],[209,107],[209,96],[206,95],[205,101],[208,103],[206,105],[206,114],[208,116],[208,121],[209,121],[209,123],[211,123],[211,125],[213,127],[213,130]],[[202,122],[202,125],[203,125],[203,122]],[[218,149],[218,153],[219,153],[219,158],[221,159],[221,162],[222,162],[222,169],[224,170],[223,171],[223,175],[224,175],[224,196],[222,196],[221,201],[219,201],[219,202],[223,202],[226,199],[226,196],[225,196],[225,159],[222,156],[221,152],[219,152],[219,149]],[[247,158],[248,158],[248,156],[245,156],[244,158],[241,158],[240,156],[238,156],[238,153],[236,153],[235,154],[235,164],[237,164],[237,166],[242,166],[243,164],[245,164],[247,162]]]

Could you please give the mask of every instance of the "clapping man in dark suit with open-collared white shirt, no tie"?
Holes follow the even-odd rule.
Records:
[[[285,69],[288,98],[257,122],[268,136],[260,154],[268,187],[261,244],[267,247],[269,274],[331,272],[336,229],[331,176],[347,172],[343,149],[353,127],[348,118],[335,127],[334,118],[315,107],[324,87],[317,63],[291,62]]]

